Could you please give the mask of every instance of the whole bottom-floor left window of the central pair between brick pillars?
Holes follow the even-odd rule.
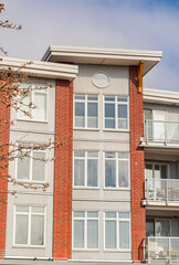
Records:
[[[73,247],[98,248],[98,212],[73,212]]]

